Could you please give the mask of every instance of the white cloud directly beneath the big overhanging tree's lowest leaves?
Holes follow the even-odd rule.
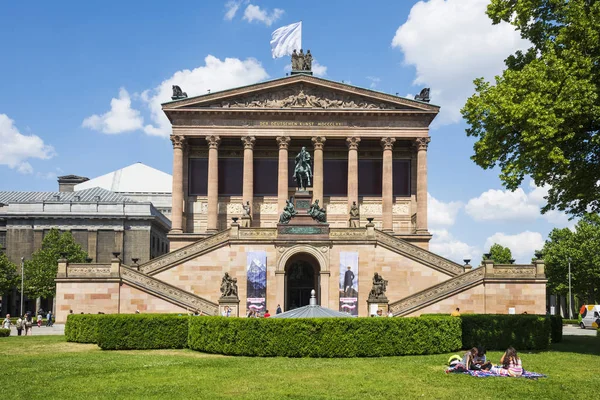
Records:
[[[557,227],[575,226],[576,221],[569,221],[569,216],[561,211],[540,212],[546,204],[548,186],[538,187],[530,181],[529,189],[529,192],[522,188],[514,192],[490,189],[469,200],[465,211],[476,221],[534,221],[542,218]]]

